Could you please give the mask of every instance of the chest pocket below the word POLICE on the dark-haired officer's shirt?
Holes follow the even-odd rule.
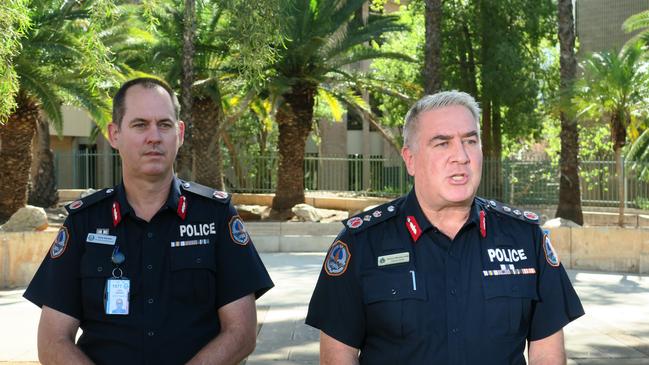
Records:
[[[212,244],[171,248],[171,294],[174,301],[215,306],[214,254]]]

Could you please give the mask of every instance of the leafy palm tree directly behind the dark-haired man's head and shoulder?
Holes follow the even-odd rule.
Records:
[[[169,0],[145,7],[157,36],[147,53],[153,57],[136,56],[128,63],[135,69],[164,75],[172,86],[182,90],[183,98],[191,99],[191,108],[183,113],[183,119],[190,121],[191,140],[181,149],[185,166],[180,166],[179,173],[221,189],[223,159],[219,138],[226,124],[234,122],[225,114],[226,108],[233,104],[231,98],[244,104],[250,101],[242,94],[250,94],[250,81],[273,57],[269,45],[281,39],[281,32],[276,32],[280,2],[199,1],[194,12],[188,11],[187,4]],[[192,14],[195,26],[186,27]],[[194,51],[181,52],[189,46],[183,35],[187,36],[185,31],[190,28],[195,28],[195,32],[189,32],[194,36]],[[189,73],[192,75],[188,78]],[[189,82],[190,78],[193,81]],[[250,83],[246,85],[246,81]],[[241,108],[245,105],[231,111]]]

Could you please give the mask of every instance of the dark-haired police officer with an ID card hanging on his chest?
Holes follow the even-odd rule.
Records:
[[[115,95],[122,183],[67,206],[25,292],[42,307],[41,362],[235,364],[254,349],[255,298],[273,283],[230,196],[174,176],[178,114],[157,79]]]

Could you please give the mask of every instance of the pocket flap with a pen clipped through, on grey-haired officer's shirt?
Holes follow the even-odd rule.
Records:
[[[363,275],[363,302],[371,304],[404,299],[426,300],[424,276],[410,271],[372,271]]]

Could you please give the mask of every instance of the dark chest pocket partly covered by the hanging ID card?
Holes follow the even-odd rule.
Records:
[[[81,257],[81,300],[84,318],[104,317],[106,280],[112,277],[112,246],[87,245]]]

